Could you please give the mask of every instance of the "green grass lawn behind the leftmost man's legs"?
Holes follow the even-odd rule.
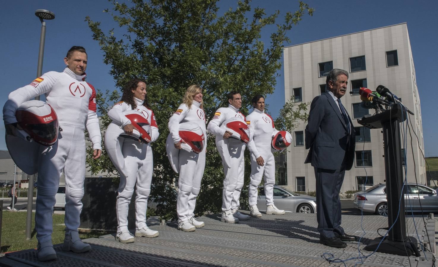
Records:
[[[1,252],[11,252],[23,249],[35,249],[38,241],[35,232],[35,213],[32,213],[32,235],[26,240],[27,212],[3,211],[1,231]],[[53,244],[64,242],[64,214],[53,214]],[[99,237],[106,232],[92,231],[80,234],[81,239]]]

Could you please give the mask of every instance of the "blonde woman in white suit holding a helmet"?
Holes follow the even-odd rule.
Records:
[[[183,103],[169,119],[169,130],[168,144],[173,142],[174,148],[179,150],[175,161],[175,167],[180,172],[177,198],[178,229],[192,232],[195,228],[204,226],[204,222],[197,221],[193,213],[204,174],[207,146],[202,88],[199,85],[187,88]]]

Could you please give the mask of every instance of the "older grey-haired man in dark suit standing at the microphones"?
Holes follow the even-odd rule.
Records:
[[[306,126],[306,161],[316,177],[316,209],[320,242],[343,248],[343,241],[354,241],[341,227],[341,189],[346,170],[354,161],[355,136],[353,123],[341,102],[348,84],[348,72],[333,69],[325,81],[328,91],[315,97],[310,106]]]

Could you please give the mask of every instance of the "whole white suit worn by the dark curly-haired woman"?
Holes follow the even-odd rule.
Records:
[[[143,106],[143,100],[134,97],[134,101],[137,104],[136,110],[150,123],[151,142],[156,141],[159,137],[159,132],[154,112]],[[127,216],[128,206],[131,202],[136,183],[135,236],[155,237],[159,235],[158,231],[151,230],[146,225],[146,211],[148,208],[148,197],[151,192],[153,172],[151,144],[119,136],[120,127],[123,128],[131,123],[131,120],[124,115],[124,112],[130,110],[132,110],[132,107],[126,102],[118,102],[114,105],[108,112],[109,118],[113,121],[105,133],[106,151],[120,173],[120,184],[116,202],[118,223],[116,239],[124,243],[134,242],[134,237],[128,232]],[[121,145],[115,146],[117,142],[123,142],[123,144],[120,143]]]

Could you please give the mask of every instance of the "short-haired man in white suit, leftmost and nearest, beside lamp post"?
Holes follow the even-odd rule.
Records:
[[[55,110],[62,132],[51,147],[40,146],[38,158],[38,195],[36,200],[35,230],[38,239],[38,259],[57,259],[52,244],[52,213],[55,194],[64,171],[66,186],[65,251],[82,253],[91,249],[79,239],[79,215],[82,211],[85,178],[85,127],[93,143],[93,158],[102,153],[99,120],[96,115],[96,92],[85,81],[87,53],[81,46],[73,46],[64,58],[63,72],[50,71],[30,84],[11,92],[3,108],[7,134],[15,135],[15,111],[23,102],[45,94],[46,102]]]

